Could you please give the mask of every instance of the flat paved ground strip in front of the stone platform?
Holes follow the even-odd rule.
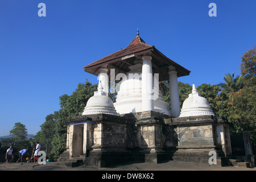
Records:
[[[61,163],[49,162],[45,165],[39,165],[38,163],[0,163],[0,171],[256,171],[256,167],[220,167],[210,164],[171,161],[162,164],[134,163],[96,168],[88,166],[65,167]]]

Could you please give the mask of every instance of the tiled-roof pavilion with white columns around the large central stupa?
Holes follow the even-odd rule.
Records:
[[[120,80],[118,74],[125,75],[121,75],[125,79],[120,84],[117,102],[114,104],[117,113],[126,114],[152,110],[179,117],[177,77],[188,76],[190,71],[164,56],[155,46],[146,44],[139,36],[138,30],[137,36],[126,48],[84,67],[85,72],[99,77],[106,93],[109,92],[111,69],[114,69],[113,81],[115,82]],[[148,75],[156,74],[158,74],[158,80],[156,80],[157,84],[154,84],[154,77]],[[159,94],[159,89],[154,87],[154,85],[158,86],[158,81],[166,80],[170,80],[171,111]],[[148,93],[149,90],[154,90],[154,93]],[[151,99],[151,97],[154,98]]]

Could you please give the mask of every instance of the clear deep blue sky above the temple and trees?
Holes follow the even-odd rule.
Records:
[[[39,3],[46,17],[39,17]],[[217,16],[210,17],[209,3]],[[36,134],[86,78],[83,67],[125,48],[136,36],[191,71],[196,86],[240,75],[256,43],[255,0],[0,0],[0,136],[16,122]]]

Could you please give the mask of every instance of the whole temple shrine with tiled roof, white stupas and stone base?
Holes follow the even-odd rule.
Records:
[[[59,161],[80,159],[97,167],[170,160],[208,163],[212,151],[216,163],[225,165],[231,155],[228,123],[214,115],[195,84],[180,110],[177,78],[190,71],[146,44],[138,30],[126,48],[84,71],[98,76],[98,90],[83,113],[66,122],[67,147]],[[159,92],[159,81],[166,80],[170,106]],[[108,97],[113,89],[114,103]]]

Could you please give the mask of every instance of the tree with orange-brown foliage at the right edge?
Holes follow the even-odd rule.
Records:
[[[241,75],[244,77],[244,87],[238,92],[231,93],[232,114],[229,121],[232,122],[235,131],[254,131],[250,133],[253,142],[256,142],[256,47],[249,49],[241,61]]]

